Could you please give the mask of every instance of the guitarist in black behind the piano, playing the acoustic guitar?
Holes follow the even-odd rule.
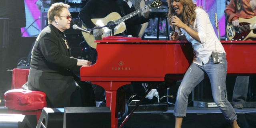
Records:
[[[89,0],[84,8],[78,14],[80,20],[87,28],[96,27],[95,24],[91,21],[94,18],[104,18],[111,12],[117,12],[120,16],[124,16],[132,12],[128,4],[123,0]],[[124,21],[126,24],[126,29],[129,31],[130,28],[133,29],[131,25],[143,24],[149,21],[150,10],[146,7],[142,16],[133,16],[132,18]],[[111,19],[110,19],[111,20]],[[93,30],[94,37],[97,38],[103,34],[102,30],[95,29]],[[123,35],[129,35],[130,33],[125,33]],[[138,33],[131,33],[133,37],[138,37]]]

